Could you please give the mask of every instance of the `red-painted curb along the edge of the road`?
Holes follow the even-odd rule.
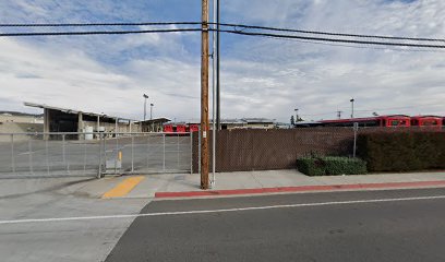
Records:
[[[336,191],[336,190],[353,190],[353,189],[417,188],[417,187],[434,187],[434,186],[445,186],[445,180],[419,181],[419,182],[301,186],[301,187],[258,188],[258,189],[228,189],[228,190],[188,191],[188,192],[156,192],[155,198],[156,199],[194,198],[194,196],[212,196],[212,195],[261,194],[261,193],[305,192],[305,191]]]

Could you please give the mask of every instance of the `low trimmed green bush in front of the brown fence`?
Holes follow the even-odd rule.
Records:
[[[349,157],[301,157],[297,159],[299,171],[308,176],[339,176],[366,174],[366,163]]]

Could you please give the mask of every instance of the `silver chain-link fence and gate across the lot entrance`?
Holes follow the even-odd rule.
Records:
[[[0,133],[0,178],[190,172],[190,133]]]

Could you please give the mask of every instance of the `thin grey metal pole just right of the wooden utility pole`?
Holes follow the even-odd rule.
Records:
[[[214,8],[214,14],[213,14],[213,22],[216,23],[216,0],[213,0],[213,8]],[[214,24],[214,28],[216,28],[216,24]],[[213,86],[212,86],[212,111],[213,111],[213,122],[212,122],[212,181],[211,184],[212,187],[215,186],[215,170],[216,170],[216,75],[215,75],[215,70],[216,70],[216,31],[213,32],[213,67],[212,67],[212,78],[213,78]]]

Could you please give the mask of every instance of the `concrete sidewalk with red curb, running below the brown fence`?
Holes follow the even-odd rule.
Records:
[[[203,192],[203,190],[200,189],[199,174],[147,175],[143,176],[143,178],[144,179],[141,179],[129,193],[121,198],[154,198],[163,195],[163,193],[171,192]],[[106,193],[103,191],[104,189],[119,187],[119,184],[124,182],[125,179],[129,179],[129,177],[105,178],[94,181],[87,187],[83,187],[82,190],[89,191],[85,192],[89,195],[99,196],[101,193]],[[229,190],[237,190],[236,194],[243,194],[243,192],[245,192],[245,194],[256,192],[280,192],[280,189],[287,189],[287,192],[289,192],[299,191],[299,188],[303,188],[305,191],[317,191],[318,189],[329,190],[329,187],[326,186],[330,186],[332,189],[342,190],[366,188],[384,189],[385,187],[445,187],[445,171],[308,177],[297,170],[267,170],[216,174],[215,181],[214,187],[208,191],[220,191],[216,194],[224,194],[224,192]],[[350,187],[347,187],[348,184]],[[368,184],[371,184],[371,187]],[[94,193],[94,190],[98,191]],[[168,196],[169,194],[166,195]],[[179,195],[187,196],[187,194]],[[189,196],[192,195],[193,193]],[[212,195],[212,193],[208,195]]]

